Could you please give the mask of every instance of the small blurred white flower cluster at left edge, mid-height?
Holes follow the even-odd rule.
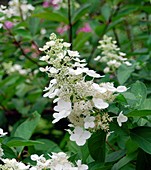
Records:
[[[14,64],[12,62],[2,64],[7,74],[18,72],[21,75],[27,75],[31,72],[31,69],[23,69],[21,65]]]

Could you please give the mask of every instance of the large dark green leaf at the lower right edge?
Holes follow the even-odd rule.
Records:
[[[141,149],[151,154],[151,127],[136,127],[130,131],[130,136]]]

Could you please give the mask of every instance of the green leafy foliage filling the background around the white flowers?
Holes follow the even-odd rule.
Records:
[[[0,29],[0,127],[9,132],[2,141],[2,148],[8,158],[23,162],[31,161],[33,153],[46,154],[65,151],[71,161],[82,159],[90,170],[149,170],[151,160],[151,3],[149,0],[72,0],[71,21],[68,17],[68,3],[59,10],[43,8],[42,0],[32,1],[35,11],[26,20],[11,30]],[[13,18],[10,18],[12,21]],[[71,23],[70,23],[71,22]],[[92,32],[77,30],[89,23]],[[84,147],[69,141],[67,120],[53,125],[53,103],[43,98],[43,89],[49,78],[41,72],[34,74],[43,62],[38,50],[55,32],[58,26],[72,25],[71,30],[59,35],[71,42],[88,62],[88,66],[103,73],[103,65],[94,61],[100,54],[98,40],[103,35],[112,36],[121,51],[127,53],[132,66],[121,65],[112,75],[106,74],[101,81],[125,85],[129,90],[116,98],[109,108],[111,115],[120,110],[129,121],[118,127],[106,140],[103,132],[93,134]],[[41,34],[42,28],[46,29]],[[69,38],[69,33],[72,38]],[[34,46],[34,48],[33,48]],[[24,50],[28,49],[25,53]],[[33,53],[36,55],[33,57]],[[17,72],[7,74],[3,63],[18,63],[29,69],[27,75]],[[139,63],[141,69],[136,69]],[[11,66],[10,66],[11,67]],[[128,105],[127,108],[124,106]],[[14,150],[14,148],[17,148]]]

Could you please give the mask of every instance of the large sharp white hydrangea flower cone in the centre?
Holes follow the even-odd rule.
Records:
[[[94,70],[86,67],[77,51],[70,51],[70,44],[58,39],[54,33],[41,51],[46,53],[40,60],[47,66],[40,68],[51,77],[48,87],[45,87],[44,97],[55,98],[53,123],[62,118],[68,118],[73,129],[67,130],[70,140],[79,146],[85,144],[91,132],[98,129],[109,130],[111,118],[103,111],[114,100],[118,92],[125,92],[125,86],[114,87],[113,83],[94,83],[94,78],[100,78]],[[86,81],[85,77],[93,79]]]

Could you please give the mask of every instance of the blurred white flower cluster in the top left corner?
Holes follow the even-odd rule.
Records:
[[[30,15],[30,12],[33,11],[34,9],[35,9],[34,6],[28,4],[27,0],[10,0],[8,2],[8,7],[4,5],[0,6],[0,13],[3,14],[3,16],[0,17],[0,22],[3,22],[14,16],[15,17],[19,16],[23,20],[25,20]]]

